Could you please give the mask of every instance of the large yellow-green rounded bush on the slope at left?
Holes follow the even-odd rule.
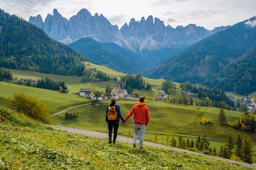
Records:
[[[12,108],[14,104],[18,112],[22,112],[28,117],[38,119],[51,117],[45,106],[45,101],[38,97],[26,96],[23,93],[14,94],[13,97],[8,98],[6,106]]]

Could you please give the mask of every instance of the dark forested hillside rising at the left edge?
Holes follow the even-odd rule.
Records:
[[[0,67],[79,75],[88,57],[49,38],[22,18],[0,10]]]

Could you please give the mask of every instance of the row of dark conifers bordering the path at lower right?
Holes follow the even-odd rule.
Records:
[[[189,138],[184,139],[182,138],[182,136],[179,136],[178,141],[176,141],[174,136],[172,136],[172,139],[170,137],[170,133],[167,133],[166,143],[168,146],[252,164],[253,143],[248,136],[244,136],[244,138],[241,138],[241,135],[237,134],[236,139],[233,139],[231,134],[229,134],[228,137],[225,139],[225,145],[221,145],[219,151],[217,151],[215,147],[211,148],[211,143],[207,139],[206,135],[203,138],[198,136],[195,141],[194,139],[190,140]],[[157,136],[155,136],[154,141],[156,140]]]

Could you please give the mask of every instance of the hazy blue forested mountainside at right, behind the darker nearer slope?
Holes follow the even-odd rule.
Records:
[[[178,82],[202,83],[205,81],[205,84],[210,87],[232,90],[240,94],[253,92],[253,86],[256,85],[253,81],[255,79],[253,51],[256,44],[256,27],[252,22],[255,20],[255,17],[250,18],[203,39],[149,69],[147,76],[168,78]],[[232,68],[234,66],[236,66],[235,69]],[[228,77],[230,71],[232,76]],[[211,76],[214,77],[207,80]],[[237,85],[234,86],[232,82],[236,82]],[[246,89],[244,85],[250,88]]]

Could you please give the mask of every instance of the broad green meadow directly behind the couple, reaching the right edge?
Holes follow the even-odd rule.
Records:
[[[106,106],[109,102],[101,102],[101,106],[76,108],[81,113],[80,117],[64,125],[93,131],[106,131],[105,113]],[[120,104],[122,115],[125,117],[137,101],[118,100],[117,103]],[[147,131],[165,133],[167,130],[173,134],[193,136],[204,136],[206,134],[207,137],[216,139],[225,139],[229,133],[236,138],[236,134],[239,133],[242,136],[244,134],[250,136],[256,142],[255,133],[239,131],[226,125],[221,126],[216,124],[220,111],[218,108],[186,106],[156,101],[146,101],[145,103],[150,110],[150,123],[148,124]],[[199,108],[200,110],[198,110]],[[234,121],[241,115],[241,112],[225,110],[225,114],[228,121]],[[202,117],[211,117],[214,124],[200,124]],[[124,126],[120,125],[120,130],[132,131],[132,123],[131,117],[127,121],[127,124]]]

